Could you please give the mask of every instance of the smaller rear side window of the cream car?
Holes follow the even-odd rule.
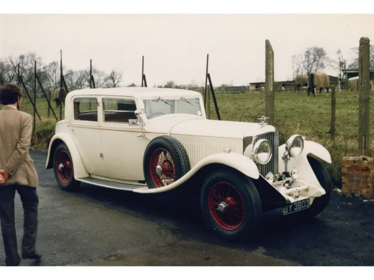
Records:
[[[93,97],[75,98],[74,119],[97,122],[97,99]]]

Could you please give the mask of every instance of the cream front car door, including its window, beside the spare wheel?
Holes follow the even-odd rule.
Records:
[[[148,141],[136,120],[132,97],[106,96],[102,99],[101,144],[107,175],[126,181],[143,181],[143,155]]]

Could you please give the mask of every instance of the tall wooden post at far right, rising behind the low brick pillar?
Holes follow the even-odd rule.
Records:
[[[360,38],[358,53],[358,151],[360,155],[369,155],[369,90],[370,90],[370,40]]]

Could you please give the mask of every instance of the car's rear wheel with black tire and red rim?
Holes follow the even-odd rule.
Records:
[[[53,170],[58,186],[64,191],[73,191],[80,185],[74,179],[74,166],[72,156],[65,143],[57,146],[53,158]]]

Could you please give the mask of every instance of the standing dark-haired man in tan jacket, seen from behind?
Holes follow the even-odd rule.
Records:
[[[14,215],[14,198],[19,193],[24,210],[22,258],[40,261],[36,253],[38,185],[37,171],[29,154],[33,119],[19,111],[20,90],[14,84],[0,88],[0,220],[5,264],[18,266],[20,258]]]

